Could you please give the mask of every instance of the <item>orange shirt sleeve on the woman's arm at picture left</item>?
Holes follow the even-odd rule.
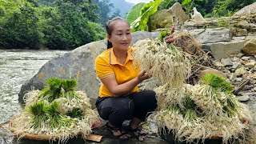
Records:
[[[106,78],[107,76],[114,74],[114,70],[110,66],[109,62],[104,61],[101,57],[97,57],[95,60],[95,69],[98,78]]]

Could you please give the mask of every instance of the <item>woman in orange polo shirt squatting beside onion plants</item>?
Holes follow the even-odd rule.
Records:
[[[130,137],[122,130],[122,122],[131,119],[129,129],[143,141],[145,134],[138,126],[148,112],[155,110],[157,101],[153,90],[138,91],[138,84],[150,76],[133,66],[128,22],[114,18],[106,22],[106,32],[108,49],[95,60],[96,73],[102,81],[96,102],[98,114],[108,120],[106,127],[118,138]]]

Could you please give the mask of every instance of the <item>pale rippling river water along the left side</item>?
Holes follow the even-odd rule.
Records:
[[[16,143],[8,123],[22,110],[18,93],[47,61],[61,56],[64,50],[0,50],[0,144]]]

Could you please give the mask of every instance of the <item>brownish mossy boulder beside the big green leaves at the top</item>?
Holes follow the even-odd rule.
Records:
[[[182,10],[182,5],[178,2],[174,3],[174,6],[171,6],[170,9],[158,10],[156,13],[152,14],[149,19],[149,29],[157,30],[158,28],[166,28],[174,26],[172,19],[173,16],[178,18],[179,24],[186,22],[190,19],[186,15],[185,11]]]

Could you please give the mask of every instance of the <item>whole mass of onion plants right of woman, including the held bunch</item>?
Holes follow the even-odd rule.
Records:
[[[190,34],[174,35],[178,43],[185,46],[182,48],[150,39],[135,44],[138,49],[134,58],[140,68],[162,83],[154,89],[158,108],[147,122],[154,122],[162,133],[166,133],[166,128],[172,131],[178,141],[222,138],[226,143],[244,138],[250,113],[232,94],[233,86],[229,82],[218,75],[206,74],[195,86],[185,83],[190,76],[190,63],[197,64],[194,56],[186,51],[194,54],[199,51],[195,47],[198,42],[195,45],[181,42],[186,38],[196,41],[191,36],[184,37],[187,35]]]

